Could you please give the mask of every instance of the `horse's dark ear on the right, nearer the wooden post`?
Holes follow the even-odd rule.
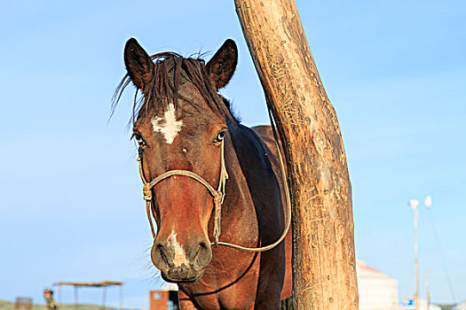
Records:
[[[207,74],[217,89],[224,88],[238,64],[238,48],[232,39],[227,39],[206,65]]]

